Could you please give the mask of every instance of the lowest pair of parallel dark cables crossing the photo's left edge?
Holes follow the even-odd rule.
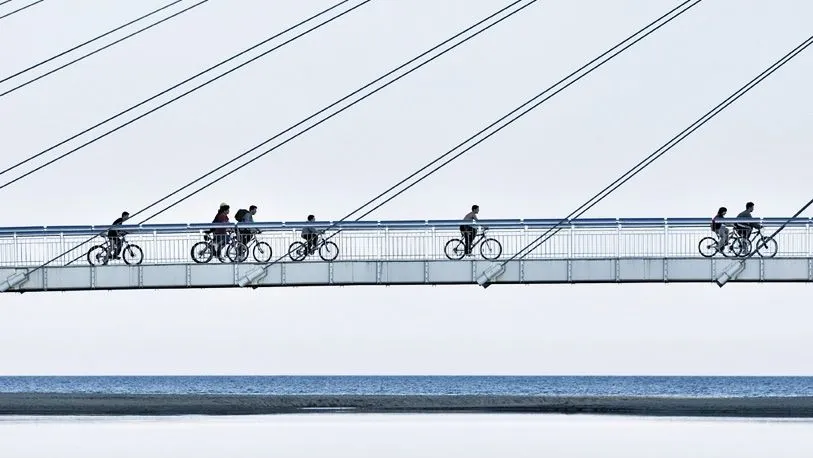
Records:
[[[208,0],[206,0],[206,1],[208,1]],[[311,17],[309,17],[309,18],[307,18],[307,19],[305,19],[303,21],[300,21],[299,23],[297,23],[297,24],[295,24],[295,25],[293,25],[291,27],[288,27],[287,29],[285,29],[285,30],[283,30],[283,31],[281,31],[281,32],[279,32],[279,33],[277,33],[277,34],[275,34],[275,35],[273,35],[273,36],[271,36],[271,37],[257,43],[257,44],[255,44],[255,45],[253,45],[253,46],[251,46],[251,47],[249,47],[249,48],[247,48],[247,49],[245,49],[245,50],[243,50],[243,51],[241,51],[241,52],[239,52],[237,54],[232,55],[231,57],[229,57],[229,58],[227,58],[227,59],[225,59],[225,60],[223,60],[223,61],[221,61],[221,62],[219,62],[219,63],[217,63],[217,64],[215,64],[215,65],[213,65],[213,66],[199,72],[199,73],[197,73],[196,75],[193,75],[193,76],[185,79],[184,81],[181,81],[180,83],[178,83],[178,84],[176,84],[176,85],[174,85],[174,86],[172,86],[172,87],[170,87],[168,89],[165,89],[165,90],[159,92],[158,94],[153,95],[152,97],[150,97],[148,99],[142,100],[141,102],[137,103],[136,105],[133,105],[130,108],[127,108],[124,111],[121,111],[121,112],[119,112],[119,113],[117,113],[117,114],[115,114],[113,116],[110,116],[109,118],[107,118],[107,119],[105,119],[105,120],[103,120],[103,121],[101,121],[101,122],[99,122],[99,123],[97,123],[97,124],[95,124],[95,125],[93,125],[91,127],[88,127],[87,129],[85,129],[85,130],[83,130],[83,131],[81,131],[81,132],[79,132],[79,133],[77,133],[77,134],[75,134],[75,135],[73,135],[73,136],[71,136],[69,138],[66,138],[65,140],[62,140],[61,142],[59,142],[59,143],[57,143],[55,145],[52,145],[52,146],[40,151],[39,153],[36,153],[36,154],[34,154],[32,156],[29,156],[25,160],[20,161],[17,164],[14,164],[14,165],[10,166],[10,167],[6,168],[3,171],[0,171],[0,176],[2,176],[3,174],[5,174],[5,173],[7,173],[7,172],[9,172],[11,170],[16,169],[17,167],[20,167],[20,166],[22,166],[22,165],[36,159],[36,158],[42,156],[43,154],[48,153],[49,151],[52,151],[55,148],[58,148],[58,147],[60,147],[60,146],[62,146],[64,144],[68,143],[71,140],[74,140],[75,138],[77,138],[77,137],[79,137],[79,136],[81,136],[81,135],[83,135],[83,134],[85,134],[87,132],[90,132],[91,130],[93,130],[93,129],[95,129],[95,128],[103,125],[103,124],[106,124],[106,123],[118,118],[119,116],[122,116],[122,115],[124,115],[126,113],[129,113],[130,111],[135,110],[136,108],[138,108],[138,107],[140,107],[140,106],[142,106],[142,105],[144,105],[144,104],[146,104],[146,103],[148,103],[148,102],[150,102],[150,101],[152,101],[152,100],[154,100],[154,99],[156,99],[156,98],[158,98],[158,97],[160,97],[160,96],[162,96],[162,95],[164,95],[164,94],[166,94],[166,93],[168,93],[170,91],[172,91],[173,89],[176,89],[179,86],[182,86],[182,85],[188,83],[189,81],[192,81],[193,79],[195,79],[195,78],[197,78],[197,77],[199,77],[199,76],[201,76],[201,75],[203,75],[205,73],[208,73],[209,71],[211,71],[211,70],[213,70],[213,69],[215,69],[217,67],[220,67],[220,66],[222,66],[222,65],[224,65],[224,64],[226,64],[226,63],[228,63],[228,62],[230,62],[230,61],[232,61],[232,60],[234,60],[234,59],[236,59],[236,58],[238,58],[238,57],[240,57],[240,56],[242,56],[242,55],[244,55],[244,54],[246,54],[246,53],[248,53],[248,52],[250,52],[250,51],[252,51],[254,49],[256,49],[256,48],[258,48],[258,47],[268,43],[269,41],[271,41],[271,40],[273,40],[275,38],[278,38],[281,35],[284,35],[285,33],[289,32],[289,31],[291,31],[293,29],[296,29],[296,28],[300,27],[301,25],[306,24],[306,23],[312,21],[313,19],[316,19],[319,16],[322,16],[322,15],[324,15],[324,14],[338,8],[339,6],[341,6],[341,5],[345,4],[345,3],[348,3],[349,1],[350,0],[341,0],[340,2],[336,3],[335,5],[327,8],[327,9],[325,9],[323,11],[320,11],[319,13],[317,13],[317,14],[315,14],[315,15],[313,15],[313,16],[311,16]],[[271,49],[269,49],[267,51],[262,52],[261,54],[247,60],[246,62],[243,62],[243,63],[237,65],[236,67],[231,68],[231,69],[229,69],[229,70],[227,70],[227,71],[225,71],[225,72],[223,72],[223,73],[221,73],[221,74],[219,74],[219,75],[217,75],[217,76],[215,76],[215,77],[213,77],[213,78],[199,84],[198,86],[196,86],[196,87],[194,87],[194,88],[192,88],[192,89],[190,89],[190,90],[188,90],[188,91],[186,91],[186,92],[184,92],[184,93],[182,93],[182,94],[180,94],[178,96],[173,97],[172,99],[158,105],[157,107],[152,108],[151,110],[149,110],[149,111],[147,111],[145,113],[142,113],[141,115],[139,115],[139,116],[125,122],[124,124],[121,124],[120,126],[118,126],[116,128],[113,128],[113,129],[111,129],[111,130],[109,130],[109,131],[107,131],[107,132],[93,138],[92,140],[89,140],[89,141],[83,143],[82,145],[79,145],[78,147],[76,147],[76,148],[74,148],[74,149],[72,149],[72,150],[70,150],[70,151],[68,151],[68,152],[66,152],[66,153],[64,153],[64,154],[62,154],[60,156],[57,156],[56,158],[54,158],[54,159],[40,165],[39,167],[37,167],[37,168],[35,168],[35,169],[33,169],[33,170],[19,176],[19,177],[15,178],[15,179],[13,179],[11,181],[8,181],[3,185],[0,185],[0,189],[6,188],[6,187],[16,183],[17,181],[20,181],[23,178],[25,178],[25,177],[33,174],[33,173],[36,173],[39,170],[42,170],[43,168],[45,168],[45,167],[47,167],[47,166],[49,166],[49,165],[63,159],[65,157],[70,156],[71,154],[81,150],[82,148],[84,148],[84,147],[86,147],[88,145],[91,145],[91,144],[101,140],[102,138],[107,137],[108,135],[111,135],[114,132],[117,132],[120,129],[123,129],[124,127],[126,127],[126,126],[128,126],[128,125],[130,125],[130,124],[132,124],[132,123],[134,123],[134,122],[136,122],[136,121],[150,115],[151,113],[153,113],[155,111],[160,110],[161,108],[163,108],[163,107],[165,107],[165,106],[167,106],[167,105],[169,105],[169,104],[171,104],[171,103],[173,103],[173,102],[175,102],[177,100],[180,100],[181,98],[183,98],[183,97],[185,97],[185,96],[187,96],[187,95],[189,95],[189,94],[191,94],[191,93],[193,93],[193,92],[195,92],[195,91],[197,91],[197,90],[199,90],[199,89],[201,89],[201,88],[203,88],[205,86],[208,86],[209,84],[223,78],[224,76],[226,76],[226,75],[228,75],[228,74],[230,74],[230,73],[232,73],[234,71],[237,71],[238,69],[240,69],[240,68],[242,68],[242,67],[244,67],[244,66],[246,66],[246,65],[248,65],[248,64],[250,64],[250,63],[252,63],[252,62],[254,62],[254,61],[256,61],[256,60],[258,60],[258,59],[260,59],[260,58],[262,58],[262,57],[264,57],[266,55],[268,55],[268,54],[270,54],[271,52],[273,52],[273,51],[275,51],[275,50],[277,50],[277,49],[279,49],[279,48],[281,48],[281,47],[283,47],[283,46],[285,46],[285,45],[287,45],[287,44],[289,44],[289,43],[291,43],[291,42],[293,42],[293,41],[295,41],[295,40],[297,40],[297,39],[299,39],[299,38],[301,38],[301,37],[303,37],[303,36],[305,36],[305,35],[307,35],[307,34],[309,34],[311,32],[313,32],[313,31],[321,28],[324,25],[329,24],[330,22],[333,22],[334,20],[344,16],[345,14],[350,13],[351,11],[354,11],[355,9],[357,9],[357,8],[361,7],[362,5],[365,5],[365,4],[367,4],[367,3],[371,2],[371,1],[373,1],[373,0],[364,0],[363,2],[359,3],[358,5],[352,7],[350,9],[348,9],[348,10],[345,10],[345,11],[341,12],[336,16],[333,16],[333,17],[331,17],[331,18],[329,18],[329,19],[315,25],[314,27],[311,27],[310,29],[308,29],[308,30],[294,36],[293,38],[288,39],[287,41],[285,41],[285,42],[283,42],[283,43],[281,43],[281,44],[279,44],[277,46],[274,46],[273,48],[271,48]]]

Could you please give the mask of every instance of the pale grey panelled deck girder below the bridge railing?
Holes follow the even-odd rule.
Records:
[[[734,260],[621,258],[512,261],[494,284],[713,282]],[[249,286],[472,285],[488,261],[280,263]],[[10,292],[237,288],[256,264],[45,268]],[[0,268],[0,281],[23,269]],[[811,282],[813,258],[754,258],[735,282]]]

